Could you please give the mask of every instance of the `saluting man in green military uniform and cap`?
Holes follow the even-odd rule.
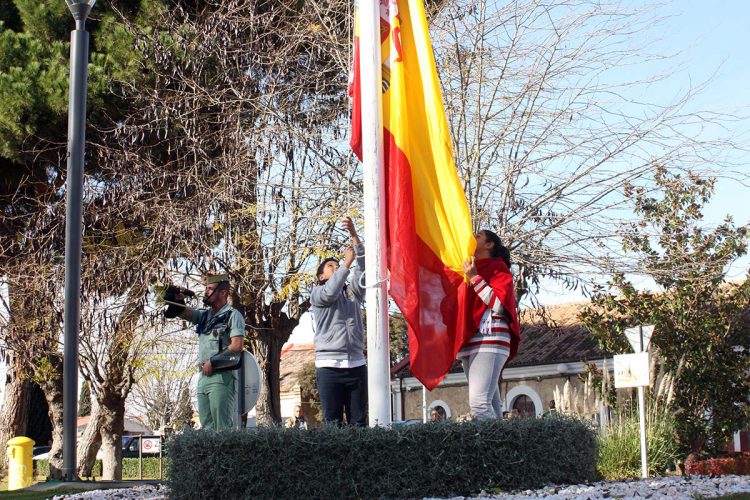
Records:
[[[198,414],[202,429],[234,427],[237,404],[236,371],[242,356],[245,320],[227,303],[226,274],[208,275],[203,303],[206,309],[185,307],[179,316],[196,325],[201,375],[198,379]],[[183,302],[182,293],[175,296]]]

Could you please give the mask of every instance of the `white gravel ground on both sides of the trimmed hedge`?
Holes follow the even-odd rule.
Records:
[[[84,499],[127,499],[151,498],[166,499],[169,488],[166,486],[138,486],[120,490],[97,490],[75,495],[56,496],[54,500]],[[573,486],[550,486],[538,490],[526,490],[513,494],[478,497],[453,497],[450,500],[468,498],[525,499],[548,498],[551,500],[595,500],[600,498],[713,498],[733,493],[750,493],[750,476],[722,476],[716,478],[693,476],[662,477],[639,481],[600,482]]]

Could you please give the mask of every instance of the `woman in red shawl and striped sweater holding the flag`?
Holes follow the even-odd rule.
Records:
[[[458,358],[469,382],[471,413],[477,419],[501,418],[498,380],[520,340],[510,251],[492,231],[479,231],[476,240],[474,257],[464,262],[473,313],[471,337]]]

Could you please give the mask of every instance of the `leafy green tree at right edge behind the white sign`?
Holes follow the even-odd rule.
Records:
[[[684,453],[717,453],[750,422],[750,280],[727,282],[747,251],[748,227],[730,217],[701,225],[713,179],[656,174],[657,192],[627,187],[641,220],[623,234],[643,274],[660,287],[639,291],[615,272],[581,319],[606,350],[632,352],[623,330],[655,326],[653,350],[675,376],[674,414]]]

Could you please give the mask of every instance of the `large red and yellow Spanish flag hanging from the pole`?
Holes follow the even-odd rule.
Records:
[[[362,159],[357,22],[354,40],[351,146]],[[433,389],[473,333],[462,264],[476,242],[422,0],[381,1],[380,42],[389,291],[409,325],[411,371]]]

